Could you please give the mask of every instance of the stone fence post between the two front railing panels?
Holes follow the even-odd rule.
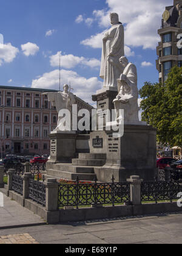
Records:
[[[132,205],[141,205],[141,182],[140,176],[130,176],[130,201]]]

